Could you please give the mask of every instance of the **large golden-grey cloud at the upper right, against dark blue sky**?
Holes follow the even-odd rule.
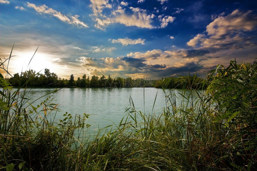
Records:
[[[201,48],[212,49],[240,49],[251,46],[253,37],[247,32],[256,30],[257,16],[252,11],[246,13],[234,10],[227,16],[218,16],[206,27],[204,34],[197,34],[187,42],[187,45],[195,47],[199,42]]]

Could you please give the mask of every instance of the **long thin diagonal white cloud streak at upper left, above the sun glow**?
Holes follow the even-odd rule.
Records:
[[[27,6],[30,8],[34,8],[36,12],[40,14],[44,13],[44,14],[52,15],[57,19],[61,20],[62,22],[66,22],[68,24],[73,24],[81,27],[88,27],[85,23],[83,23],[78,19],[79,17],[78,15],[68,17],[63,15],[61,12],[54,10],[53,8],[49,8],[45,4],[41,6],[36,6],[35,4],[30,4],[29,2],[27,2]]]

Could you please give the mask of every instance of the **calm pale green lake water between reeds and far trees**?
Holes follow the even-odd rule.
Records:
[[[29,93],[30,102],[53,90],[53,88],[32,88]],[[90,115],[88,124],[93,131],[98,130],[98,126],[101,129],[108,125],[119,124],[122,117],[127,114],[126,108],[132,106],[130,97],[136,111],[152,113],[153,109],[155,114],[160,114],[166,106],[165,94],[162,89],[157,88],[120,88],[116,92],[105,88],[63,88],[53,95],[53,103],[59,103],[61,109],[61,112],[57,112],[56,119],[63,119],[65,112],[73,116],[86,113]],[[34,106],[46,98],[47,96],[34,102]]]

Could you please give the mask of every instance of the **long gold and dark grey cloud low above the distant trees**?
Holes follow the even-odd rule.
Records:
[[[195,73],[203,68],[197,62],[184,61],[171,66],[166,64],[146,64],[146,59],[133,57],[117,58],[90,58],[80,57],[81,66],[87,68],[91,75],[108,75],[112,77],[140,77],[143,75],[159,79],[160,77],[169,77],[174,75],[185,75]],[[149,74],[151,73],[151,75]]]

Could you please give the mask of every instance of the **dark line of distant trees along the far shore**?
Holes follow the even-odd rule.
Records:
[[[111,78],[110,75],[105,77],[102,75],[98,77],[93,75],[91,80],[89,76],[84,74],[82,78],[78,77],[75,80],[74,75],[71,74],[70,79],[61,79],[55,73],[51,73],[49,69],[45,69],[44,74],[36,73],[34,70],[28,70],[22,72],[21,75],[16,73],[9,79],[9,82],[13,86],[20,86],[26,84],[27,87],[155,87],[155,88],[206,88],[205,79],[199,78],[196,75],[180,76],[180,77],[169,77],[169,85],[164,85],[162,78],[160,80],[152,80],[151,78]]]

